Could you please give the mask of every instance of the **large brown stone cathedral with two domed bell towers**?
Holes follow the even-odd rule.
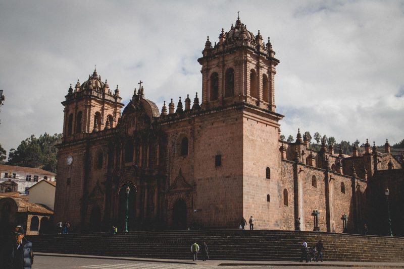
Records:
[[[385,187],[392,219],[404,221],[394,217],[404,204],[403,157],[394,159],[388,142],[383,153],[367,142],[348,156],[325,143],[310,149],[297,128],[295,143],[280,140],[279,60],[260,31],[237,18],[218,42],[208,37],[198,62],[202,95],[161,110],[141,82],[124,106],[118,86],[110,89],[96,70],[70,86],[56,222],[122,231],[128,206],[129,230],[237,229],[242,216],[254,216],[256,229],[293,230],[300,218],[301,230],[360,232],[368,223],[376,233]],[[398,223],[393,229],[404,233]]]

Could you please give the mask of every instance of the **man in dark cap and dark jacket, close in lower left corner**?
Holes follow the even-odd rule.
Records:
[[[24,238],[25,231],[17,226],[12,232],[13,239],[3,245],[0,268],[31,269],[34,262],[32,243]]]

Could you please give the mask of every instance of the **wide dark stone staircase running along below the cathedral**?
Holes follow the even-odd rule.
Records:
[[[110,235],[78,233],[27,236],[35,252],[190,259],[196,240],[211,259],[299,260],[304,238],[309,247],[323,240],[328,261],[404,261],[404,238],[280,230],[144,231]]]

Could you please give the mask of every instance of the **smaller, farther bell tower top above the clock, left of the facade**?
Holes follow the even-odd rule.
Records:
[[[82,133],[115,127],[123,107],[118,85],[112,93],[107,80],[102,82],[96,69],[83,84],[77,80],[74,89],[70,84],[65,98],[62,102],[64,141],[81,139]]]

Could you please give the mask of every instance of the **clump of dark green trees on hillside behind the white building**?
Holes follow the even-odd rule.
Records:
[[[17,150],[10,150],[7,164],[42,168],[56,173],[58,150],[55,145],[61,142],[61,133],[51,136],[45,132],[39,138],[32,134],[21,142]]]

